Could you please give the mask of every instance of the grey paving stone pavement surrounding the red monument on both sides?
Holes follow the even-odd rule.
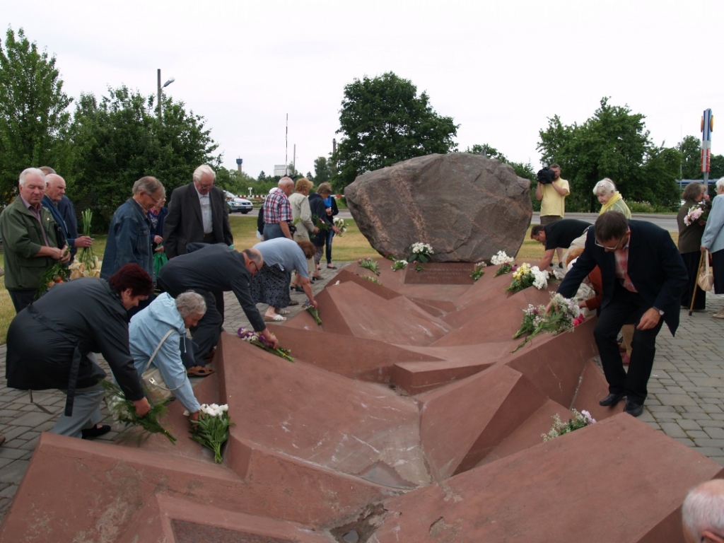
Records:
[[[340,268],[344,263],[337,264]],[[322,281],[313,283],[316,294],[334,279],[337,271],[323,269]],[[306,299],[292,292],[299,306],[290,307],[292,316],[301,311]],[[249,326],[239,303],[227,292],[224,329],[235,334],[238,327]],[[264,306],[260,306],[264,308]],[[681,310],[676,337],[664,327],[657,338],[654,369],[649,380],[649,397],[639,418],[654,429],[677,439],[687,447],[724,466],[724,320],[712,319],[712,313],[724,308],[724,296],[707,293],[707,311]],[[28,392],[7,387],[5,382],[6,346],[0,345],[0,434],[6,442],[0,447],[0,520],[7,514],[18,484],[35,450],[41,432],[52,428],[61,413],[65,395],[58,391],[35,392],[33,400],[52,411],[49,414],[32,405]],[[107,366],[106,366],[107,371]],[[194,378],[192,382],[200,382]],[[620,403],[617,409],[623,409]],[[106,424],[111,424],[104,409]],[[112,442],[117,429],[100,439]]]

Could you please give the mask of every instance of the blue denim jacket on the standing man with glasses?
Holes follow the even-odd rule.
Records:
[[[103,255],[101,279],[108,279],[126,264],[138,264],[153,277],[151,222],[133,198],[122,203],[111,219]]]

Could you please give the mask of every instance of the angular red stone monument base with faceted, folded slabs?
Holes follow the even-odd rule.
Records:
[[[351,268],[318,296],[321,326],[270,326],[296,363],[222,334],[194,393],[230,406],[224,463],[178,402],[176,445],[42,434],[0,542],[681,541],[687,490],[723,470],[598,405],[594,317],[513,353],[547,291],[506,293],[494,267],[471,285]],[[543,443],[573,408],[599,422]]]

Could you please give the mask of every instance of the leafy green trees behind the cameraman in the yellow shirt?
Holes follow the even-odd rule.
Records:
[[[594,185],[610,177],[624,198],[648,201],[657,209],[675,209],[679,195],[675,180],[681,153],[652,144],[644,115],[628,106],[612,106],[602,98],[594,116],[584,124],[563,125],[557,115],[539,132],[542,162],[557,162],[571,184],[566,198],[570,211],[597,211]]]

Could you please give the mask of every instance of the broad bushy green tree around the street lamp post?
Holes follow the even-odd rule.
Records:
[[[76,207],[98,211],[94,216],[101,224],[130,197],[140,177],[157,177],[169,198],[174,188],[190,182],[199,165],[219,168],[221,157],[212,154],[217,146],[204,130],[203,117],[187,113],[184,104],[167,97],[162,122],[157,111],[153,96],[144,98],[125,86],[109,88],[100,102],[90,94],[80,96],[72,125],[76,160],[68,193]]]

